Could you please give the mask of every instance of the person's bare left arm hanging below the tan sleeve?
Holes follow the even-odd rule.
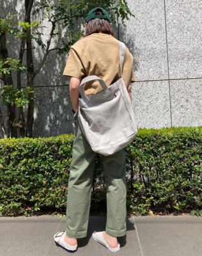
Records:
[[[77,111],[79,103],[79,86],[81,80],[77,77],[70,77],[70,99],[72,102],[72,108]]]

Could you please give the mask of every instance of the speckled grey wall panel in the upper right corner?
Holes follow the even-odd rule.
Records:
[[[169,77],[202,77],[202,1],[166,0]]]

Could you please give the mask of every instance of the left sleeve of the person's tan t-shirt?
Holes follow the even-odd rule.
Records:
[[[68,54],[63,76],[73,76],[79,79],[82,79],[82,77],[85,76],[82,61],[77,52],[72,48],[70,48],[70,52]]]

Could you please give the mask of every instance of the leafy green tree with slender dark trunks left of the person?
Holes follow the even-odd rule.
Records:
[[[24,10],[9,17],[0,17],[0,79],[3,81],[1,97],[7,108],[6,124],[0,106],[0,129],[4,138],[32,137],[34,124],[35,77],[38,75],[50,51],[59,54],[68,52],[84,31],[81,31],[83,18],[91,8],[103,6],[112,14],[114,22],[129,19],[133,14],[127,1],[56,1],[44,0],[34,4],[34,0],[24,1]],[[3,6],[12,10],[15,4],[4,1]],[[24,15],[24,20],[17,20]],[[40,20],[38,20],[40,17]],[[47,40],[43,39],[43,22],[50,26]],[[61,30],[65,28],[65,34]],[[8,34],[19,44],[17,58],[8,51]],[[52,47],[52,45],[54,45]],[[43,49],[40,63],[33,61],[36,52]],[[24,65],[22,65],[24,63]],[[26,72],[26,88],[22,87],[22,73]],[[50,70],[51,72],[51,70]],[[16,77],[16,83],[14,83]],[[45,74],[47,76],[47,74]],[[12,95],[12,97],[11,97]],[[27,106],[27,118],[25,107]],[[19,131],[19,132],[17,132]]]

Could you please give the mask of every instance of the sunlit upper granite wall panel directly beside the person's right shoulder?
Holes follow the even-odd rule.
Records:
[[[134,13],[120,26],[123,40],[134,56],[134,70],[138,81],[168,79],[164,1],[128,1]]]

